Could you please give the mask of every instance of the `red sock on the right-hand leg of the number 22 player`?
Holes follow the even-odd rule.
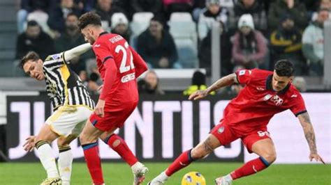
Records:
[[[107,143],[112,150],[115,150],[128,165],[133,166],[138,162],[138,159],[135,158],[135,155],[131,152],[130,148],[128,148],[128,145],[126,145],[125,141],[117,134],[112,134],[106,138],[105,143]]]

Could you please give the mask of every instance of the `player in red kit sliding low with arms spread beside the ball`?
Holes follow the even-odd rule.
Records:
[[[244,164],[230,174],[215,179],[215,184],[232,184],[234,179],[253,175],[270,166],[276,160],[274,143],[267,131],[267,124],[277,113],[290,109],[299,119],[310,149],[309,159],[322,161],[318,155],[313,126],[304,106],[304,100],[290,83],[293,65],[290,61],[278,61],[274,72],[266,70],[239,70],[219,79],[207,90],[198,90],[189,99],[201,99],[210,92],[233,83],[245,85],[239,95],[226,106],[223,119],[210,131],[207,139],[193,149],[183,152],[150,185],[164,184],[178,170],[189,166],[192,161],[202,159],[216,147],[228,145],[240,138],[249,152],[260,156]],[[324,163],[324,162],[323,162]]]

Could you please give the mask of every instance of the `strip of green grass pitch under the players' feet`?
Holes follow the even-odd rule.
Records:
[[[167,168],[169,163],[146,163],[149,167],[147,182]],[[169,185],[178,185],[182,176],[186,172],[201,172],[206,180],[207,185],[213,184],[213,180],[221,175],[241,166],[242,163],[193,163],[188,168],[177,172],[169,179]],[[103,176],[106,184],[114,185],[131,185],[133,176],[131,168],[126,163],[109,163],[103,162]],[[0,184],[40,184],[45,179],[46,173],[41,163],[0,163]],[[73,174],[71,184],[91,184],[89,173],[85,163],[73,163]],[[314,184],[314,185],[331,185],[331,165],[322,164],[297,164],[297,165],[272,165],[267,170],[259,172],[250,177],[238,179],[233,183],[238,184]]]

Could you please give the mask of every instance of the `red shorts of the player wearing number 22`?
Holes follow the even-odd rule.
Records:
[[[119,106],[105,104],[105,115],[103,118],[93,113],[89,121],[101,131],[110,131],[123,127],[124,122],[131,115],[137,106],[137,102],[123,103]]]

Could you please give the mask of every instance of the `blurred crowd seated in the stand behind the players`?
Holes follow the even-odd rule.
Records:
[[[221,76],[238,69],[272,70],[282,58],[293,62],[297,76],[323,75],[323,23],[330,19],[331,0],[22,0],[16,58],[36,51],[45,59],[83,44],[78,18],[89,11],[101,16],[105,30],[122,35],[151,70],[205,68],[206,74],[194,74],[184,95],[206,88],[213,22],[220,25]],[[70,65],[97,94],[102,81],[93,52]],[[140,92],[163,95],[158,81],[148,72],[138,83]],[[302,78],[293,83],[305,90]]]

